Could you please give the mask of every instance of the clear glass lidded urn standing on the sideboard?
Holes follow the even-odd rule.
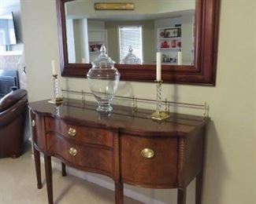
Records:
[[[106,54],[106,47],[102,46],[100,55],[91,63],[87,72],[87,79],[91,93],[98,102],[97,111],[112,111],[110,103],[117,91],[120,73],[114,67],[115,62]]]

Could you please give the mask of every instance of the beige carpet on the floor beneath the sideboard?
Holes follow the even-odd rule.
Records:
[[[43,167],[43,165],[41,165]],[[0,158],[0,204],[46,204],[45,174],[42,168],[43,188],[36,188],[35,167],[29,149],[20,158]],[[55,204],[114,203],[114,193],[80,178],[54,170]],[[141,202],[124,198],[124,203]]]

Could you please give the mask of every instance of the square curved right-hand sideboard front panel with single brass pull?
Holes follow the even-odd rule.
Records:
[[[144,187],[177,183],[176,138],[121,136],[121,180]]]

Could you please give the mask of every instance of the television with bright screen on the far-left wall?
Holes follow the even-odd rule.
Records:
[[[13,12],[0,15],[0,46],[17,44]]]

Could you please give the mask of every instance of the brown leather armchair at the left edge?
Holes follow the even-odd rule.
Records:
[[[0,100],[0,157],[19,157],[28,136],[24,134],[28,95],[24,89],[8,93]]]

